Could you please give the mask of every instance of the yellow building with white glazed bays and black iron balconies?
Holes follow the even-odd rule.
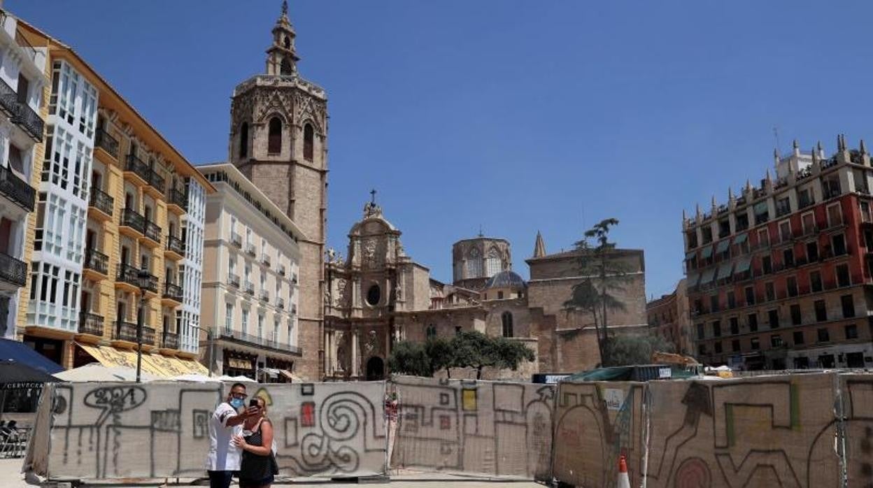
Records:
[[[17,335],[65,368],[133,366],[141,320],[145,371],[205,373],[203,218],[215,189],[69,46],[19,25],[47,52],[51,82]]]

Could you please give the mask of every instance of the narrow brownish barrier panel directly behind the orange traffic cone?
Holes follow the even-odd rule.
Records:
[[[643,383],[561,381],[554,421],[554,477],[569,485],[614,486],[627,457],[632,486],[643,463]]]

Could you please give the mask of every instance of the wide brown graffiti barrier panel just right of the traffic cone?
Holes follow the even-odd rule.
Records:
[[[647,486],[838,486],[835,380],[650,381]]]

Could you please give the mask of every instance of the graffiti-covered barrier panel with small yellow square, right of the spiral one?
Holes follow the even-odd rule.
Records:
[[[554,387],[394,378],[393,468],[547,480]]]

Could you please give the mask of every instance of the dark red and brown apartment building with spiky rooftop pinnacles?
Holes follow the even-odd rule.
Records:
[[[837,138],[683,217],[695,353],[746,369],[873,365],[873,166]]]

